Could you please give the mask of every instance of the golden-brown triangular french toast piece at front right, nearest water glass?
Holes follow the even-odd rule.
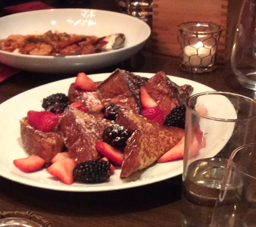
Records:
[[[165,127],[125,109],[119,110],[116,123],[133,132],[124,149],[121,178],[127,178],[156,162],[178,144],[185,133],[183,129]]]

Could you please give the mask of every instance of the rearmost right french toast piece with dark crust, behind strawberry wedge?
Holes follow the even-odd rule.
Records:
[[[145,83],[144,87],[157,103],[157,107],[163,111],[164,119],[173,108],[184,104],[193,90],[187,84],[178,86],[164,72],[155,74]]]

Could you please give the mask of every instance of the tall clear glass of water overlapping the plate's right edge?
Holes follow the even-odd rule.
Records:
[[[189,98],[182,175],[183,227],[209,227],[226,159],[235,148],[255,142],[254,100],[220,91]]]

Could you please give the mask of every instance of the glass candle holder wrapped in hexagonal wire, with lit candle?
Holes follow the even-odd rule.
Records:
[[[215,70],[220,25],[207,22],[184,22],[178,25],[182,47],[180,69],[189,73]]]

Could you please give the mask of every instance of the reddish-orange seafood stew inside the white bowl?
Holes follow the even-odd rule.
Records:
[[[116,34],[96,37],[50,30],[41,35],[11,34],[8,38],[0,40],[0,47],[2,51],[27,55],[83,55],[108,51],[116,38]]]

